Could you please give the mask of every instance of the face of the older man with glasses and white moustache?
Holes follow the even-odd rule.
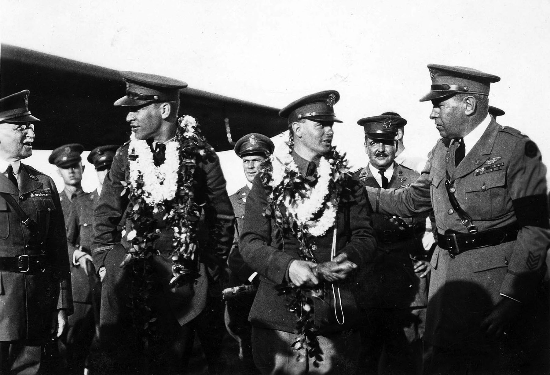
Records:
[[[0,123],[0,158],[18,161],[32,155],[34,124]]]

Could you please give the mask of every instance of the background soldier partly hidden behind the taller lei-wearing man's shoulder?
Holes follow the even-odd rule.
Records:
[[[67,361],[67,371],[84,373],[86,357],[95,333],[94,310],[92,310],[92,290],[88,274],[91,262],[91,241],[94,223],[94,208],[101,194],[103,180],[111,169],[117,145],[94,148],[88,155],[88,162],[94,164],[99,184],[90,193],[73,198],[67,222],[67,241],[71,262],[71,281],[73,284],[74,314],[69,317],[67,335],[60,344],[61,352]],[[100,288],[101,285],[95,285]],[[97,290],[93,291],[97,293]],[[101,293],[101,292],[100,292]],[[99,301],[97,301],[99,302]]]

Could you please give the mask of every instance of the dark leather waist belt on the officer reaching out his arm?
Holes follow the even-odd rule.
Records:
[[[450,257],[454,258],[467,250],[515,241],[518,238],[518,230],[519,227],[516,223],[477,233],[456,233],[449,229],[445,230],[445,234],[438,233],[437,240],[439,247],[447,250]]]

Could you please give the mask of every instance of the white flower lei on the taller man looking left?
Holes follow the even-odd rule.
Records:
[[[172,200],[178,187],[179,143],[168,142],[166,160],[161,166],[153,163],[153,153],[145,140],[137,140],[130,135],[129,153],[137,158],[130,160],[130,183],[137,183],[143,177],[144,199],[149,205],[156,205]]]

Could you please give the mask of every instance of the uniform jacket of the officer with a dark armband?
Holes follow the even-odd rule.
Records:
[[[439,140],[415,183],[405,189],[371,188],[368,197],[372,207],[385,214],[414,216],[433,207],[440,234],[467,233],[445,188],[449,173],[456,199],[478,231],[519,225],[515,241],[455,258],[437,247],[432,256],[426,340],[446,348],[487,350],[492,344],[480,323],[501,294],[520,302],[535,296],[550,244],[544,212],[546,168],[529,137],[494,119],[456,168],[453,150],[450,140]]]

